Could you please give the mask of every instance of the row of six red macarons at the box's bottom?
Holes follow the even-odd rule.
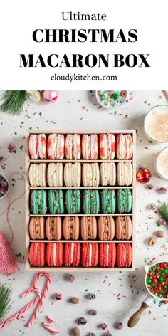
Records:
[[[31,243],[31,266],[130,267],[130,243]]]

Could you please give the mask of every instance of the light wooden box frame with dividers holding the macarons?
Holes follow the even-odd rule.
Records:
[[[29,169],[29,166],[31,163],[41,163],[41,162],[46,162],[47,163],[50,163],[50,162],[75,162],[75,160],[68,160],[68,159],[63,159],[63,160],[51,160],[51,159],[36,159],[36,160],[33,160],[30,158],[29,156],[29,149],[28,149],[28,140],[29,140],[29,135],[30,134],[39,134],[39,133],[45,133],[46,136],[48,136],[49,134],[51,133],[61,133],[61,134],[73,134],[74,132],[56,132],[56,131],[53,131],[53,130],[30,130],[26,133],[26,269],[27,271],[66,271],[66,272],[69,272],[69,271],[85,271],[85,272],[91,272],[91,271],[96,271],[96,272],[99,272],[99,271],[134,271],[135,270],[135,187],[136,187],[136,132],[135,130],[111,130],[111,131],[108,131],[108,132],[105,132],[105,131],[102,131],[102,132],[97,132],[96,134],[97,135],[100,135],[100,133],[113,133],[115,135],[117,134],[127,134],[129,133],[130,135],[132,135],[132,140],[133,140],[133,154],[132,154],[132,159],[131,160],[118,160],[118,159],[113,159],[113,160],[108,160],[107,162],[132,162],[132,168],[133,168],[133,179],[132,179],[132,185],[129,186],[129,187],[119,187],[119,186],[112,186],[112,187],[96,187],[95,189],[131,189],[132,190],[132,212],[129,213],[129,214],[89,214],[89,215],[86,215],[86,214],[76,214],[76,215],[70,215],[70,214],[59,214],[59,215],[51,215],[51,214],[45,214],[45,215],[33,215],[30,213],[30,209],[29,209],[29,195],[30,195],[30,192],[31,192],[31,189],[57,189],[56,187],[52,188],[52,187],[31,187],[29,185],[29,179],[28,179],[28,169]],[[78,134],[80,135],[83,135],[83,134],[91,134],[92,132],[78,132]],[[95,132],[93,132],[95,134]],[[85,161],[83,159],[80,159],[78,160],[78,162],[80,162],[81,164],[83,164],[84,162],[88,162],[88,163],[91,163],[91,162],[105,162],[103,161],[102,159],[98,159],[98,160],[88,160],[88,161]],[[93,189],[93,187],[78,187],[78,188],[70,188],[70,187],[61,187],[59,189]],[[62,267],[48,267],[48,266],[45,266],[45,267],[34,267],[34,266],[31,266],[29,261],[28,261],[28,249],[29,249],[29,246],[30,246],[30,243],[32,242],[40,242],[40,241],[32,241],[30,236],[29,236],[29,229],[28,229],[28,225],[29,225],[29,220],[31,218],[31,216],[44,216],[44,217],[48,217],[48,216],[112,216],[114,219],[116,218],[116,216],[130,216],[132,218],[132,238],[130,241],[119,241],[119,240],[116,240],[116,239],[113,239],[112,241],[100,241],[100,240],[94,240],[94,241],[83,241],[83,240],[78,240],[79,243],[84,243],[84,242],[96,242],[96,243],[109,243],[109,242],[113,242],[113,243],[131,243],[132,245],[132,266],[130,266],[129,268],[118,268],[118,267],[114,267],[114,268],[107,268],[107,267],[103,267],[101,268],[100,266],[98,267],[82,267],[82,266],[79,266],[79,267],[67,267],[67,266],[62,266]],[[48,241],[47,239],[43,240],[43,242],[45,243],[48,243],[50,241]],[[51,241],[51,242],[58,242],[58,241]],[[62,243],[65,243],[67,241],[65,240],[61,240]],[[75,241],[68,241],[69,243],[70,242],[75,242]]]

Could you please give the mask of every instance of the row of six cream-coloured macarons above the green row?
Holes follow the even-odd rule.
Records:
[[[131,162],[95,163],[33,163],[29,168],[31,187],[99,187],[100,185],[130,186],[132,184]]]

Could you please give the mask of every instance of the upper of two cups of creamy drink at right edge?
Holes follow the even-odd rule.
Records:
[[[153,142],[161,143],[161,144],[162,143],[167,143],[168,142],[168,137],[167,137],[167,140],[159,140],[157,137],[152,136],[152,134],[150,134],[150,132],[149,132],[149,125],[150,126],[152,125],[152,120],[153,120],[155,111],[156,111],[156,115],[158,116],[158,120],[156,121],[156,125],[155,125],[155,127],[156,127],[155,132],[156,132],[157,135],[158,135],[158,132],[162,133],[162,129],[160,128],[162,126],[158,126],[158,125],[165,125],[164,120],[162,120],[161,118],[159,119],[159,115],[163,115],[163,114],[166,115],[167,114],[167,119],[168,119],[168,105],[156,105],[156,106],[152,107],[149,110],[149,112],[147,113],[147,115],[145,117],[145,120],[144,120],[145,135],[150,140],[152,140]],[[152,114],[153,114],[153,116],[152,116]],[[149,118],[150,117],[151,117],[151,122],[149,123]],[[148,127],[148,130],[147,130],[147,127]],[[163,127],[163,129],[164,129],[164,127]],[[164,132],[168,134],[166,127],[165,127]]]

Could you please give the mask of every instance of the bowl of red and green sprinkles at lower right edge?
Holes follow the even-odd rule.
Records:
[[[145,275],[145,285],[154,298],[168,300],[168,262],[149,266]]]

